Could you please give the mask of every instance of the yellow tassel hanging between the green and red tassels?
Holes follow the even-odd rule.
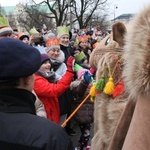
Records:
[[[113,78],[110,77],[108,82],[105,85],[104,93],[108,95],[112,95],[114,92],[114,89],[115,89],[114,81],[113,81]]]

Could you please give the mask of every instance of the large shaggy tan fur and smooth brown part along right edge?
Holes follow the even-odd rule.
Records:
[[[150,149],[150,4],[133,19],[125,38],[123,78],[129,101],[108,150]]]

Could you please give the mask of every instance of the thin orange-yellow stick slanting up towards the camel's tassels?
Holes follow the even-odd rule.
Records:
[[[78,105],[78,107],[71,113],[71,115],[63,122],[61,127],[65,127],[67,122],[74,116],[74,114],[80,109],[80,107],[84,104],[84,102],[89,98],[90,94],[88,94],[83,101]]]

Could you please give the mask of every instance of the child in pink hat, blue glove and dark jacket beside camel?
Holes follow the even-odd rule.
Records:
[[[75,97],[76,106],[78,106],[89,93],[91,87],[90,81],[91,73],[89,70],[79,67],[79,70],[77,71],[77,79],[70,85],[70,89]],[[94,103],[88,99],[74,116],[81,131],[76,150],[85,150],[89,144],[91,123],[93,122],[93,110]]]

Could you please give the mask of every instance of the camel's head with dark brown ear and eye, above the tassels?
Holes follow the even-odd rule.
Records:
[[[116,22],[112,26],[111,34],[108,34],[90,54],[89,63],[91,67],[97,69],[98,61],[103,54],[114,50],[122,50],[126,32],[125,25],[121,22]]]

